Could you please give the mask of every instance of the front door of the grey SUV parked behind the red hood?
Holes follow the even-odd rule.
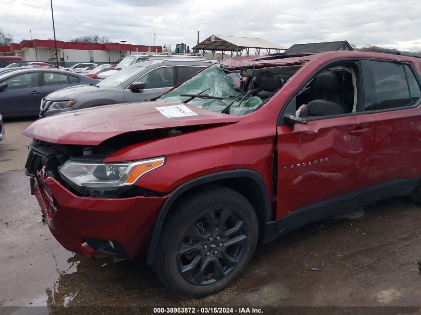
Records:
[[[145,88],[140,91],[124,90],[126,103],[140,102],[159,97],[174,86],[174,66],[164,66],[146,72],[138,80],[145,83]]]

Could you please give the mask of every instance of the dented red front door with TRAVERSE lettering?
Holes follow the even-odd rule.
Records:
[[[372,113],[362,111],[359,67],[336,66],[323,73],[329,71],[335,74],[324,82],[319,80],[315,90],[307,93],[308,101],[346,104],[348,109],[340,114],[310,115],[305,118],[308,124],[277,127],[277,218],[282,218],[278,230],[355,205],[365,187],[375,121]],[[328,93],[331,100],[326,99]],[[298,93],[296,99],[301,101],[302,95]]]

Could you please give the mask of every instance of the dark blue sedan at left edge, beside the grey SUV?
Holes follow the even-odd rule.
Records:
[[[98,81],[68,71],[17,68],[0,73],[0,114],[4,117],[39,114],[41,99],[58,89]]]

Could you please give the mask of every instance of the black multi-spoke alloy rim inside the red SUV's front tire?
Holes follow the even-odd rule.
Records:
[[[177,251],[178,270],[195,285],[220,281],[238,265],[246,245],[247,229],[237,211],[210,210],[184,233]]]

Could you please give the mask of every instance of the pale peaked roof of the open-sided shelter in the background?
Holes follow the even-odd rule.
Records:
[[[263,38],[212,35],[193,49],[237,51],[245,48],[286,50],[287,48]]]

